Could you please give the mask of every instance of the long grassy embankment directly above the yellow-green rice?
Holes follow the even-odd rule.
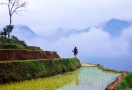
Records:
[[[73,71],[80,66],[75,58],[0,62],[0,83],[49,77]]]

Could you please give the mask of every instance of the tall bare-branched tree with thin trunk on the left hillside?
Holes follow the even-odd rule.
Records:
[[[19,15],[20,11],[25,11],[28,2],[27,1],[22,2],[22,0],[8,0],[8,3],[0,3],[0,4],[8,6],[9,22],[10,22],[8,27],[8,38],[10,38],[12,15],[14,13]],[[20,9],[20,8],[25,8],[25,9]]]

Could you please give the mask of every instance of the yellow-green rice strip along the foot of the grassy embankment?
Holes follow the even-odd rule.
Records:
[[[57,76],[0,85],[0,90],[56,90],[78,78],[80,69]]]

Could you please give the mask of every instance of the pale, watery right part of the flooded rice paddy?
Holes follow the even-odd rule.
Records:
[[[105,90],[119,75],[102,71],[97,67],[83,67],[76,80],[58,90]]]

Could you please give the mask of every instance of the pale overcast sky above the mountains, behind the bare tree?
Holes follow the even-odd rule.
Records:
[[[0,0],[7,2],[8,0]],[[12,24],[25,24],[39,35],[58,28],[85,29],[111,18],[132,20],[132,0],[27,0],[27,11],[13,15]],[[7,6],[0,6],[0,28],[9,23]]]

